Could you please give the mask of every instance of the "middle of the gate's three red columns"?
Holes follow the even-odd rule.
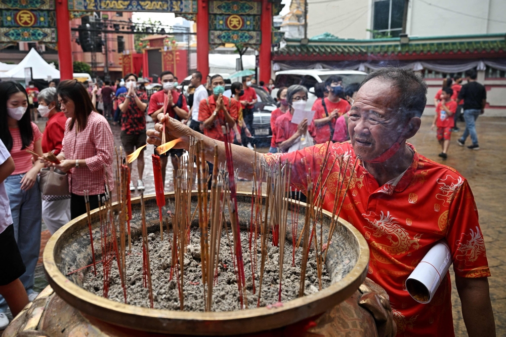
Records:
[[[209,74],[209,2],[197,2],[197,70],[202,73],[202,81]]]

